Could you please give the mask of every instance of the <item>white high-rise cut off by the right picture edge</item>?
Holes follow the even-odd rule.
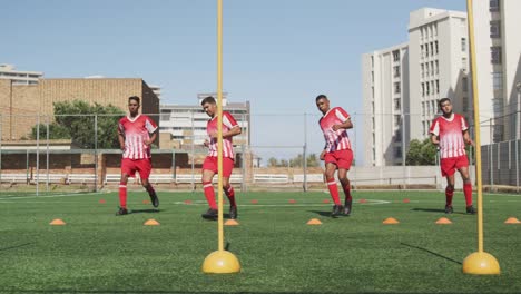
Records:
[[[521,1],[473,1],[481,143],[514,139],[521,82]],[[518,135],[519,138],[519,135]]]

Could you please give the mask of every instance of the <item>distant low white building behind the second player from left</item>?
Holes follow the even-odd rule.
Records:
[[[203,147],[205,139],[208,138],[206,124],[209,117],[203,111],[200,101],[208,96],[217,97],[216,94],[199,94],[197,105],[161,105],[159,124],[161,148],[189,149],[193,144],[197,148]],[[224,94],[223,107],[235,117],[243,129],[240,135],[234,137],[234,145],[248,145],[250,141],[249,101],[244,104],[228,102],[226,94]]]

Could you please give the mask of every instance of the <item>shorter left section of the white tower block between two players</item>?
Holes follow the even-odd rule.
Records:
[[[409,46],[402,43],[362,57],[365,164],[402,164],[403,116],[409,112]],[[405,138],[404,138],[405,137]]]

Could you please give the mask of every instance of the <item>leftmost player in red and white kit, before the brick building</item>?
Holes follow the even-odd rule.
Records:
[[[154,207],[159,206],[154,187],[148,182],[151,170],[150,145],[157,137],[157,125],[153,119],[139,114],[139,97],[128,98],[129,115],[121,118],[118,124],[119,146],[122,150],[121,180],[119,183],[119,210],[116,215],[126,215],[127,210],[127,182],[139,173],[141,184],[150,196]],[[151,136],[150,136],[151,134]]]

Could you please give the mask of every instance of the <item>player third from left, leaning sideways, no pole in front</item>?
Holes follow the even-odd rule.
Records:
[[[316,107],[323,114],[318,120],[321,129],[324,133],[326,145],[321,153],[321,160],[325,161],[324,177],[333,198],[334,206],[331,216],[336,217],[341,214],[351,215],[353,197],[351,195],[351,184],[347,178],[347,170],[353,161],[353,151],[347,136],[347,129],[353,128],[350,115],[341,107],[330,107],[330,100],[325,95],[318,95],[315,99]],[[338,187],[334,175],[338,170],[338,180],[345,195],[345,206],[342,206]]]

